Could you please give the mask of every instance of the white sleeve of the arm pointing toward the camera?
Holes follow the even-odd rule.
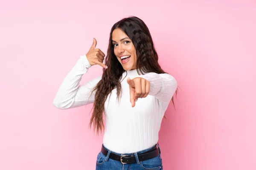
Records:
[[[177,81],[169,74],[148,73],[140,77],[150,82],[150,91],[148,95],[155,96],[162,103],[169,104],[173,94],[177,89]]]

